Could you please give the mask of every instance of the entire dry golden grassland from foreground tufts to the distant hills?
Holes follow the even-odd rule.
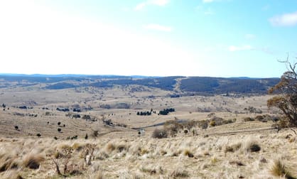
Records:
[[[291,177],[297,175],[291,170],[297,165],[296,135],[290,130],[276,133],[271,130],[272,121],[244,121],[259,115],[245,111],[248,107],[274,115],[266,107],[269,96],[170,98],[167,94],[173,92],[150,87],[132,92],[135,87],[0,89],[1,102],[10,107],[0,110],[0,178],[288,178],[286,171]],[[129,104],[130,109],[100,107],[119,103]],[[16,108],[21,105],[33,109]],[[55,110],[77,105],[92,107],[79,114],[96,120],[72,119]],[[168,107],[176,112],[136,115],[139,110],[158,112]],[[216,120],[201,129],[199,121],[210,122],[214,117],[224,119],[223,125]],[[108,125],[107,119],[127,127]],[[131,129],[177,119],[189,122],[170,128],[163,139],[151,137],[162,126],[146,128],[144,134]],[[286,165],[284,170],[283,164],[271,165],[276,158]]]

